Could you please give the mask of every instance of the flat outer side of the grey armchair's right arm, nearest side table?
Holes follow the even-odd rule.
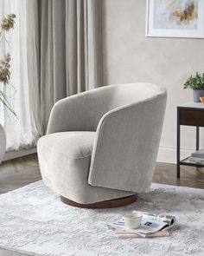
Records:
[[[142,102],[115,108],[99,121],[88,183],[132,192],[150,184],[163,128],[166,90]]]

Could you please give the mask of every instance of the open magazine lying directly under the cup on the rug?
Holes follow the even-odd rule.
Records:
[[[140,213],[143,215],[140,226],[134,229],[130,229],[124,225],[124,218],[108,224],[112,228],[123,229],[127,233],[135,233],[141,237],[150,236],[152,233],[158,233],[161,231],[167,231],[170,227],[175,225],[175,216],[170,216],[166,214],[156,214],[156,213],[144,213],[133,211],[133,213]]]

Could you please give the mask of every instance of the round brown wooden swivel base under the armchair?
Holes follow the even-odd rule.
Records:
[[[96,202],[92,204],[80,204],[80,203],[74,202],[73,200],[69,200],[61,196],[61,201],[69,206],[80,207],[80,208],[93,208],[93,209],[124,207],[124,206],[130,205],[135,200],[137,200],[137,196],[136,194],[133,194],[131,196],[126,196],[126,197],[118,198],[115,200],[105,200],[105,201]]]

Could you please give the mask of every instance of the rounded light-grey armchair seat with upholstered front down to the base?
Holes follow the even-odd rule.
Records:
[[[88,184],[95,132],[77,131],[45,135],[37,144],[42,180],[57,194],[88,204],[131,195]]]

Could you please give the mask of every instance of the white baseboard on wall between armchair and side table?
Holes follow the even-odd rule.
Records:
[[[188,157],[194,149],[181,148],[181,159]],[[171,147],[160,147],[157,161],[167,162],[167,163],[176,163],[176,148]]]

